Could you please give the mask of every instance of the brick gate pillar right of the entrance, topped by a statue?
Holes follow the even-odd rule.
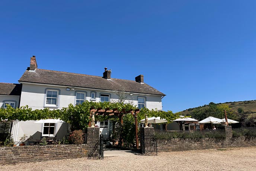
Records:
[[[154,128],[153,127],[143,127],[140,128],[140,145],[141,145],[141,153],[145,154],[147,148],[149,147],[150,141],[154,136]]]

